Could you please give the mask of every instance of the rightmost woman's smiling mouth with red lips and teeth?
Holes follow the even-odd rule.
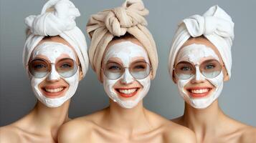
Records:
[[[207,97],[207,95],[212,91],[211,87],[194,87],[186,89],[189,92],[190,97],[202,98]]]

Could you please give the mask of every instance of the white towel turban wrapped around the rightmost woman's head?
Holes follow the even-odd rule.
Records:
[[[234,40],[234,23],[231,17],[219,6],[212,6],[203,16],[194,15],[184,19],[173,39],[169,54],[169,72],[173,75],[176,54],[183,44],[192,36],[204,35],[219,50],[227,74],[231,76],[231,46]]]

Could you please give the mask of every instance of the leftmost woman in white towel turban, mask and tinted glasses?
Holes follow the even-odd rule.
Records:
[[[89,64],[77,16],[71,1],[50,0],[42,14],[25,19],[23,61],[38,101],[25,117],[1,127],[1,142],[57,142],[60,126],[70,120],[70,98]]]

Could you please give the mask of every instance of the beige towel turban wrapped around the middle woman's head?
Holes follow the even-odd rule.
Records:
[[[107,9],[90,16],[87,23],[87,34],[92,39],[89,49],[89,59],[93,70],[100,79],[101,61],[103,54],[114,36],[123,36],[129,33],[143,44],[148,52],[152,66],[152,76],[156,75],[158,56],[153,36],[146,28],[147,21],[144,18],[148,10],[141,0],[127,0],[114,9]],[[102,79],[100,79],[102,82]]]

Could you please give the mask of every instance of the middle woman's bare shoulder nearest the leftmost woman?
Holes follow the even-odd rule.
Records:
[[[100,119],[101,114],[101,111],[95,112],[63,124],[58,133],[58,142],[89,142],[95,127],[98,127],[97,119]]]

